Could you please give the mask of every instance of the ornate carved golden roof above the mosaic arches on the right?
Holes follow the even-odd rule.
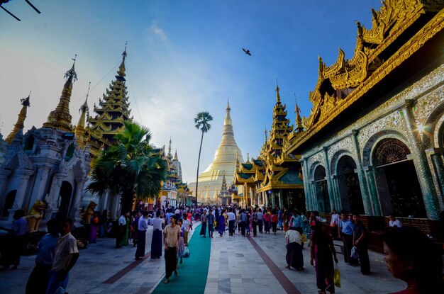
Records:
[[[357,21],[355,53],[350,60],[345,60],[341,49],[329,67],[319,57],[318,81],[309,94],[313,108],[309,117],[302,119],[306,131],[289,136],[285,152],[294,152],[338,115],[362,101],[379,81],[433,38],[444,26],[443,6],[443,1],[435,0],[385,0],[379,11],[372,9],[371,29]],[[411,35],[414,30],[409,29],[424,21],[428,21],[426,26]],[[411,38],[405,42],[409,34]]]

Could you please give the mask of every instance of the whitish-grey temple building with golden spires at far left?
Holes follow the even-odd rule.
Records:
[[[75,64],[75,59],[74,59]],[[70,99],[77,74],[65,74],[60,101],[42,128],[31,128],[23,135],[30,96],[21,99],[17,123],[0,146],[6,152],[0,165],[0,217],[11,224],[13,213],[24,209],[29,230],[38,230],[40,220],[56,215],[79,219],[79,204],[89,173],[89,145],[79,145],[74,137]],[[87,106],[82,107],[87,111]],[[84,125],[84,113],[79,125]],[[2,141],[2,140],[0,140]],[[1,150],[1,149],[0,149]]]

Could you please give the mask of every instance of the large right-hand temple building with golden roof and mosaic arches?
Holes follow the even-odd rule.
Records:
[[[444,210],[444,2],[382,1],[372,28],[357,22],[353,57],[327,66],[303,131],[284,153],[303,166],[306,207],[365,215],[370,230],[395,213],[433,232]]]

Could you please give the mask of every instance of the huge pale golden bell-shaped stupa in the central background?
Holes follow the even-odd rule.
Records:
[[[227,103],[221,144],[214,153],[213,162],[199,175],[199,191],[197,193],[199,203],[219,203],[218,196],[221,193],[224,174],[230,183],[234,177],[236,162],[243,163],[242,152],[234,140],[230,111],[230,103]]]

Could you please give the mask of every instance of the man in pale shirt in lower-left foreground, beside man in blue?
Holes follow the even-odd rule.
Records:
[[[46,294],[54,294],[62,287],[66,290],[68,284],[68,273],[79,259],[79,249],[77,249],[77,239],[71,234],[72,220],[67,218],[62,222],[60,234],[62,237],[57,241],[54,261],[49,272],[50,281]]]

